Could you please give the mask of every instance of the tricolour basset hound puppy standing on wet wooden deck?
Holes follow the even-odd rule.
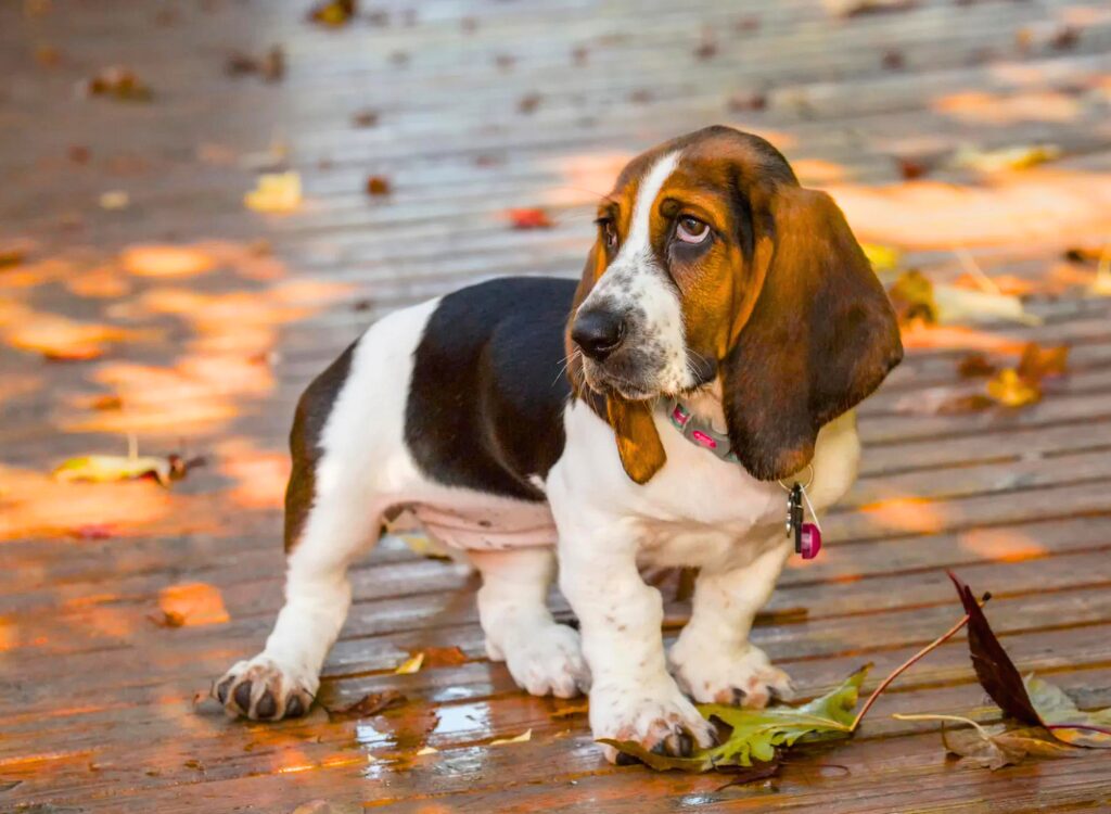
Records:
[[[844,217],[775,148],[725,127],[663,143],[601,200],[578,284],[494,279],[393,312],[309,386],[286,605],[212,693],[233,715],[304,714],[348,566],[404,509],[481,573],[487,653],[521,687],[589,689],[599,738],[710,745],[692,701],[790,692],[748,641],[793,550],[784,486],[810,482],[817,512],[848,490],[852,408],[901,358]],[[547,606],[557,553],[578,632]],[[645,565],[700,569],[667,653]]]

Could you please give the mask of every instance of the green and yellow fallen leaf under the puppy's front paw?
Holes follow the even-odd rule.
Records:
[[[731,727],[731,731],[721,745],[695,750],[690,757],[659,755],[632,741],[601,738],[599,743],[613,746],[661,772],[672,768],[708,772],[713,768],[773,763],[778,760],[779,748],[799,741],[849,737],[855,719],[853,709],[868,669],[868,666],[858,669],[831,693],[799,707],[741,709],[719,704],[701,704],[698,709],[702,717],[719,721]]]

